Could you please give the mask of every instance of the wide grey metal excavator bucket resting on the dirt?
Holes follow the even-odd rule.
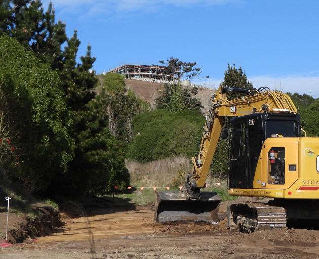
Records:
[[[221,202],[216,192],[201,192],[201,199],[187,200],[183,192],[157,192],[154,222],[205,221],[218,223]]]

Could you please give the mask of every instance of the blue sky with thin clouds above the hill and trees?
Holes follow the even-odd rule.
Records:
[[[42,1],[47,7],[48,0]],[[98,72],[123,63],[197,61],[218,87],[227,64],[255,87],[319,97],[319,2],[274,0],[52,0],[67,33],[88,42]]]

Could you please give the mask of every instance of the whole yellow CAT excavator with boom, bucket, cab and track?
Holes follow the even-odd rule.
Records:
[[[242,97],[228,100],[227,93]],[[288,220],[319,219],[319,138],[307,138],[290,97],[265,87],[220,86],[212,99],[193,171],[183,192],[156,194],[154,222],[218,223],[220,197],[200,190],[221,133],[230,144],[229,195],[272,198],[229,206],[230,229],[251,232],[285,227]]]

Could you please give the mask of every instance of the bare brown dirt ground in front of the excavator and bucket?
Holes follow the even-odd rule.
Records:
[[[100,210],[65,219],[58,232],[2,249],[0,258],[319,258],[317,230],[230,233],[225,220],[218,226],[154,227],[153,209]]]

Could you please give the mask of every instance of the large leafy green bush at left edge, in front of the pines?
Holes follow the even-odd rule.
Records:
[[[71,116],[57,73],[15,39],[0,37],[0,88],[20,166],[13,178],[46,189],[73,156]]]

